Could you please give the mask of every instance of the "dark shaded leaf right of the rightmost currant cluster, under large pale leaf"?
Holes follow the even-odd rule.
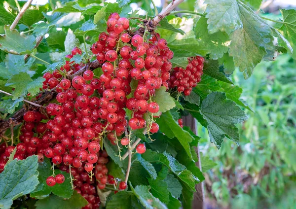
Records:
[[[233,84],[233,82],[225,76],[225,73],[220,71],[218,60],[206,60],[203,72],[217,80]]]

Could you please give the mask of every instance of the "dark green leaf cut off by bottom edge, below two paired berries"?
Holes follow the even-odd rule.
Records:
[[[88,202],[74,191],[70,199],[63,199],[55,195],[38,200],[35,204],[36,209],[81,209],[86,206]]]

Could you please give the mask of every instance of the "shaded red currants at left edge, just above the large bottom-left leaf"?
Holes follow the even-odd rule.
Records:
[[[45,132],[45,123],[40,122],[42,119],[47,119],[46,115],[37,110],[28,111],[24,114],[24,125],[21,128],[21,135],[19,137],[20,143],[16,146],[7,146],[6,143],[0,144],[0,173],[3,171],[10,154],[16,147],[14,159],[24,160],[28,156],[37,154],[38,161],[43,162],[43,150],[49,144],[41,142],[41,135]]]

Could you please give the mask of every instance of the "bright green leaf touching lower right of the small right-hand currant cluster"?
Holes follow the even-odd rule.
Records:
[[[212,78],[209,75],[203,74],[201,76],[201,81],[199,83],[197,83],[197,85],[193,89],[193,91],[195,93],[199,94],[199,96],[202,99],[204,99],[212,91],[218,91],[220,89],[221,89],[221,86],[216,79]]]

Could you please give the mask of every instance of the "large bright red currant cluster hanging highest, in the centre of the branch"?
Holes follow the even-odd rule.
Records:
[[[104,63],[97,89],[102,95],[99,114],[108,121],[108,139],[115,144],[117,136],[123,134],[127,125],[132,130],[148,126],[148,134],[158,131],[153,114],[159,111],[159,105],[152,101],[152,96],[161,86],[168,88],[167,80],[172,69],[170,60],[174,54],[159,34],[150,35],[150,39],[141,35],[129,35],[129,20],[120,18],[117,13],[109,16],[107,26],[108,34],[101,33],[91,51],[100,63]],[[136,84],[135,91],[127,99],[126,96],[131,93],[131,82]],[[89,92],[93,90],[90,88]],[[133,112],[128,122],[124,118],[123,108]],[[150,116],[148,124],[143,118],[145,113]],[[129,143],[127,136],[121,139],[122,145]],[[142,153],[146,150],[143,145],[138,146],[142,147],[139,148]]]

